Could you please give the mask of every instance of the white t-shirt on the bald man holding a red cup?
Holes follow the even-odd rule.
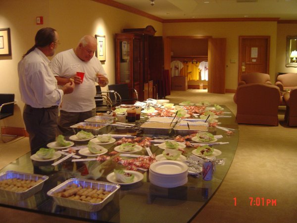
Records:
[[[95,82],[98,82],[96,73],[99,72],[107,76],[96,56],[85,62],[75,55],[73,49],[70,49],[57,54],[51,60],[51,68],[55,76],[65,78],[70,78],[76,72],[85,73],[83,83],[76,84],[71,94],[64,95],[61,110],[83,112],[96,108],[94,99],[96,95]]]

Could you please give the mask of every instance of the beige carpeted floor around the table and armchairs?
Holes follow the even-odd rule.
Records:
[[[166,99],[172,103],[208,100],[212,104],[226,105],[236,114],[233,95],[191,89],[172,91]],[[229,172],[192,223],[297,222],[297,128],[284,124],[284,109],[279,110],[279,126],[239,126],[239,144]],[[27,138],[0,144],[0,167],[14,161],[28,148]],[[250,197],[260,198],[260,206],[250,206]],[[267,205],[270,200],[276,201],[276,205]],[[7,208],[0,208],[0,219],[5,223],[78,222]]]

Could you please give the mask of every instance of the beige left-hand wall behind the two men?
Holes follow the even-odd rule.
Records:
[[[44,17],[43,25],[36,25],[36,16]],[[114,34],[123,28],[144,28],[152,25],[156,36],[162,35],[162,23],[97,3],[93,0],[0,0],[0,28],[10,28],[12,56],[0,56],[0,93],[14,93],[17,100],[15,115],[1,121],[2,126],[24,127],[18,90],[17,63],[34,45],[36,32],[43,27],[55,28],[61,52],[77,45],[86,35],[105,35],[106,61],[103,67],[110,83],[115,81]]]

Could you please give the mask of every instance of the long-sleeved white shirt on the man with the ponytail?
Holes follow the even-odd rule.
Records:
[[[63,91],[49,67],[50,61],[35,48],[18,63],[19,90],[22,101],[33,108],[60,105]]]

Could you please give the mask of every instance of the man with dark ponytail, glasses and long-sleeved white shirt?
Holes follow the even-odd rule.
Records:
[[[33,154],[55,141],[58,106],[63,95],[74,89],[73,80],[58,89],[49,67],[47,57],[54,55],[58,44],[58,33],[53,28],[42,28],[35,36],[35,45],[18,63],[19,90],[25,103],[23,118]]]

